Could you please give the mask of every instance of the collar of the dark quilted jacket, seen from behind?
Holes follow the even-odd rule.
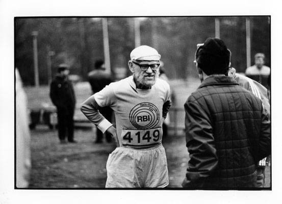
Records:
[[[210,85],[239,85],[235,79],[225,75],[212,75],[203,80],[199,88]]]

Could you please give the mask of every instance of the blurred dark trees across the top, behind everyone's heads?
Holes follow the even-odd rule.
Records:
[[[237,72],[245,72],[256,53],[264,53],[265,65],[270,67],[269,16],[15,18],[15,65],[24,85],[49,84],[64,62],[70,65],[70,74],[77,75],[73,80],[85,81],[95,60],[104,58],[105,47],[106,66],[120,79],[122,71],[129,74],[130,52],[141,43],[160,50],[169,79],[186,79],[197,75],[193,63],[196,44],[215,32],[232,50],[231,62]]]

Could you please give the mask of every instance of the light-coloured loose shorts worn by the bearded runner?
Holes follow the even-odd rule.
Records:
[[[165,149],[117,147],[107,161],[106,188],[164,188],[168,186]]]

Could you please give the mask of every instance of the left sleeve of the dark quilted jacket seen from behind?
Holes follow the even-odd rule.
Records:
[[[185,108],[186,146],[190,160],[184,188],[202,188],[218,164],[210,117],[199,104],[188,101]]]

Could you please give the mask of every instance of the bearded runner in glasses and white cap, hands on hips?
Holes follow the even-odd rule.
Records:
[[[161,55],[141,45],[130,57],[133,75],[89,97],[81,111],[99,130],[110,133],[117,145],[107,161],[106,188],[166,187],[162,124],[171,100],[168,83],[158,79]],[[116,128],[98,111],[106,106],[114,110]]]

